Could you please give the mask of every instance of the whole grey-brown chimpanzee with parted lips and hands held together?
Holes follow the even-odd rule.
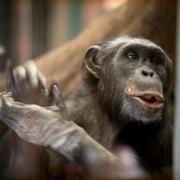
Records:
[[[32,66],[34,76],[27,66],[9,75],[13,98],[26,102],[33,87],[55,103],[27,105],[1,93],[0,118],[20,137],[11,131],[1,142],[4,177],[162,178],[171,169],[172,62],[158,45],[125,36],[90,47],[82,65],[84,86],[67,98],[56,85],[49,93]]]

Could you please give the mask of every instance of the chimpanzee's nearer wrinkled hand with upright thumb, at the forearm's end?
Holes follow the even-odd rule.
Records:
[[[1,93],[0,119],[24,140],[37,145],[49,145],[56,135],[66,131],[69,133],[77,127],[63,116],[66,114],[65,107],[60,105],[63,102],[60,97],[56,99],[58,91],[55,85],[53,93],[57,106],[47,108],[16,102],[10,93]]]

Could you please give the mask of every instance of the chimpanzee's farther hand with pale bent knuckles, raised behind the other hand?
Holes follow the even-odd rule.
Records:
[[[10,62],[6,67],[7,90],[12,92],[15,100],[27,104],[48,104],[46,79],[33,61],[12,69]]]

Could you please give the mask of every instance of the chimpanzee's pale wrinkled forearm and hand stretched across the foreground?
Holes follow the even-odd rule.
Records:
[[[50,147],[70,162],[80,164],[94,178],[129,177],[120,159],[75,123],[63,119],[57,108],[25,105],[1,93],[0,119],[24,140]]]

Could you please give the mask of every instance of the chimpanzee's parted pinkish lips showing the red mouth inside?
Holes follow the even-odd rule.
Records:
[[[146,105],[153,109],[160,109],[164,105],[164,97],[158,92],[147,92],[147,93],[137,93],[128,94],[141,104]]]

